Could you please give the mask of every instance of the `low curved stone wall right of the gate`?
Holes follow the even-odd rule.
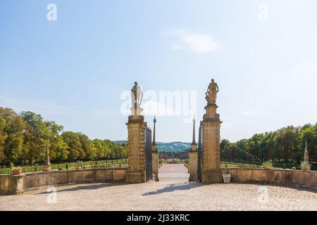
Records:
[[[231,182],[267,183],[317,189],[317,172],[291,169],[222,169],[231,174]]]

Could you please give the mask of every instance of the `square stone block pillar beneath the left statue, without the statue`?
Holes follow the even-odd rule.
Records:
[[[146,181],[144,117],[131,115],[128,120],[128,172],[126,181],[144,183]]]

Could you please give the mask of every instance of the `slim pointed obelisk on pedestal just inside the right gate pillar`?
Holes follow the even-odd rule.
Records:
[[[198,180],[198,152],[197,152],[197,143],[195,138],[195,122],[193,120],[192,127],[192,148],[189,150],[189,181]]]

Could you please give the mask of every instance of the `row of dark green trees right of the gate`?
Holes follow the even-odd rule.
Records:
[[[225,159],[257,160],[300,163],[304,157],[305,143],[311,162],[317,162],[317,123],[302,127],[287,126],[277,131],[254,134],[250,139],[232,143],[223,139],[221,157]]]

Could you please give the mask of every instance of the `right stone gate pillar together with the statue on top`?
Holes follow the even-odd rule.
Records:
[[[222,182],[220,170],[220,116],[216,105],[218,85],[211,80],[206,92],[207,105],[203,120],[203,168],[201,171],[202,183]]]

